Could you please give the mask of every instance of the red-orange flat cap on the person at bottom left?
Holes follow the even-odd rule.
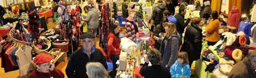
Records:
[[[50,62],[53,59],[54,59],[54,57],[52,57],[48,54],[41,53],[35,57],[35,60],[33,62],[36,64],[42,64],[42,63]]]

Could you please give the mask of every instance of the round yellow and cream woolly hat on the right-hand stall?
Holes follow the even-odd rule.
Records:
[[[232,57],[234,60],[236,60],[237,62],[238,61],[241,61],[242,60],[242,50],[240,49],[235,49],[233,52],[232,52]]]

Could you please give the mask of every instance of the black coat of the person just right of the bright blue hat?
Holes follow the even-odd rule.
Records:
[[[186,28],[187,24],[190,22],[190,18],[187,18],[187,21],[184,23],[184,15],[181,15],[180,13],[174,16],[177,20],[176,23],[176,29],[179,32],[179,34],[182,34],[184,32],[184,29]]]

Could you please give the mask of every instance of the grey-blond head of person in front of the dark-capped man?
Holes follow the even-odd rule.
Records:
[[[99,62],[89,62],[86,64],[86,74],[89,78],[108,78],[109,74],[104,66]]]

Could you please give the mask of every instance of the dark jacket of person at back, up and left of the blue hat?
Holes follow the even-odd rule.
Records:
[[[162,21],[162,18],[163,18],[164,10],[167,10],[167,8],[163,4],[156,6],[156,8],[153,10],[151,19],[154,21],[153,22],[154,25],[160,24],[160,22]]]

